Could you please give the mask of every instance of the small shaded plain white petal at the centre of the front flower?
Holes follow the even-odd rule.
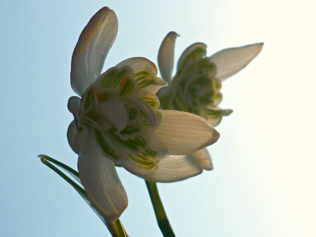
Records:
[[[119,98],[110,98],[98,105],[98,115],[108,119],[119,131],[127,126],[128,114]]]

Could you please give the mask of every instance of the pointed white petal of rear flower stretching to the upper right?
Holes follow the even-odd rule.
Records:
[[[223,81],[239,72],[260,53],[263,43],[250,44],[239,48],[224,49],[210,56],[216,65],[216,78]]]

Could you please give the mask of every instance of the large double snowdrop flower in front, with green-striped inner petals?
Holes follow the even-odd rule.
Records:
[[[67,137],[78,156],[79,177],[98,212],[116,220],[128,204],[115,165],[132,174],[155,174],[165,155],[185,155],[213,144],[219,133],[203,118],[157,110],[155,93],[166,83],[155,64],[134,57],[101,74],[118,32],[111,9],[100,9],[83,29],[71,60],[74,116]]]

